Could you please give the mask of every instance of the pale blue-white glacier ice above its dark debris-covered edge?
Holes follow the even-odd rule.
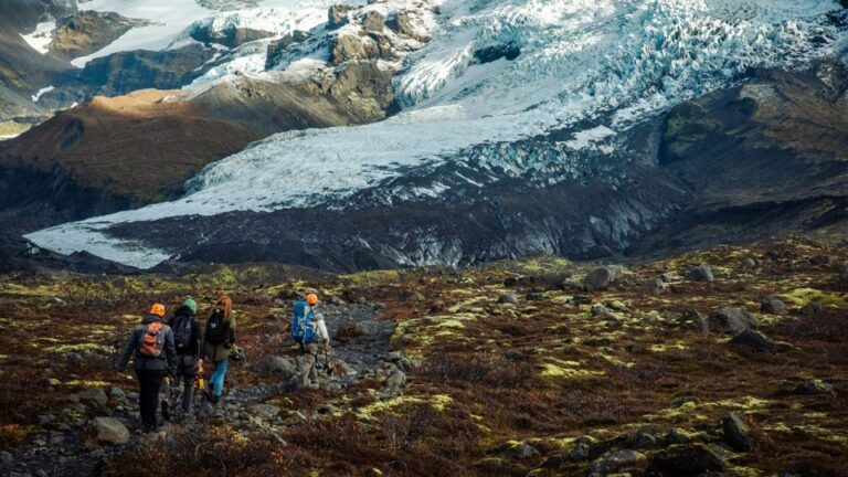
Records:
[[[274,8],[286,9],[283,3],[293,9],[299,4],[280,0]],[[749,68],[808,64],[831,54],[845,36],[828,17],[838,8],[830,0],[462,0],[407,7],[412,4],[439,12],[428,24],[431,41],[404,60],[395,78],[403,108],[396,116],[365,126],[278,134],[210,165],[176,201],[60,225],[28,239],[62,253],[85,250],[149,267],[169,253],[105,231],[118,223],[180,215],[339,206],[359,191],[449,161],[474,160],[484,168],[509,163],[511,173],[520,176],[524,165],[500,157],[499,151],[509,149],[501,145],[573,130],[542,163],[532,165],[534,170],[555,168],[587,151],[613,153],[616,135],[639,121],[733,84]],[[292,17],[280,18],[285,22]],[[174,32],[169,42],[178,38]],[[481,49],[508,43],[520,47],[515,60],[476,57]],[[480,149],[487,153],[469,152]],[[433,197],[445,188],[434,187],[402,192],[402,198]]]

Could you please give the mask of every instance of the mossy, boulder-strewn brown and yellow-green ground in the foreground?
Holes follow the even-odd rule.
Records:
[[[632,268],[4,276],[0,471],[841,476],[845,252],[789,240]],[[303,390],[286,327],[312,288],[335,352]],[[136,432],[116,347],[149,303],[191,295],[205,315],[222,290],[247,361],[218,406]]]

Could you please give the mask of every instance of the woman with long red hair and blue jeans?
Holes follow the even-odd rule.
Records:
[[[203,354],[208,362],[215,367],[209,383],[213,404],[218,404],[224,392],[224,378],[230,367],[230,354],[235,344],[235,318],[233,318],[233,300],[229,296],[218,299],[215,308],[206,320],[206,331],[203,333]]]

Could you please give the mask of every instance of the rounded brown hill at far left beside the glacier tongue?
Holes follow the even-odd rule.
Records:
[[[0,204],[22,231],[173,197],[210,161],[257,138],[166,104],[169,92],[95,98],[3,144]],[[116,151],[120,151],[116,155]]]

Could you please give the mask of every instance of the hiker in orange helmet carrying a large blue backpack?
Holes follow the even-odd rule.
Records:
[[[330,349],[324,314],[318,309],[318,295],[311,293],[306,296],[306,301],[295,301],[292,337],[300,344],[300,385],[318,389],[318,344],[325,353]]]

